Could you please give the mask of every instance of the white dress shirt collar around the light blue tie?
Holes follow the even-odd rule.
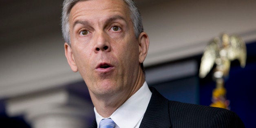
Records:
[[[148,84],[144,82],[135,94],[108,117],[115,122],[115,128],[139,128],[151,95],[152,93],[148,88]],[[97,128],[99,128],[99,121],[106,118],[99,115],[95,107],[94,112],[98,126]]]

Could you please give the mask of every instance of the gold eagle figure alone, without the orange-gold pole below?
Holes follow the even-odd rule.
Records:
[[[204,78],[216,64],[214,78],[225,77],[230,71],[230,62],[238,59],[241,67],[246,63],[246,45],[238,36],[223,34],[222,38],[214,38],[206,46],[201,65],[199,77]]]

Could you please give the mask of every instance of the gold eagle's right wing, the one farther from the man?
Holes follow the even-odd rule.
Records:
[[[246,45],[241,38],[235,35],[230,36],[230,47],[227,53],[229,60],[233,61],[238,59],[241,67],[245,67],[247,57]]]

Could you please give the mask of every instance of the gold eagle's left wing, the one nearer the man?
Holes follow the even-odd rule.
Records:
[[[199,77],[204,78],[212,69],[215,59],[218,56],[219,38],[210,41],[206,46],[199,69]]]

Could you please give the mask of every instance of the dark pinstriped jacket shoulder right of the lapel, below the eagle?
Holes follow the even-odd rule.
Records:
[[[169,114],[174,128],[244,128],[236,113],[210,106],[169,101]]]

